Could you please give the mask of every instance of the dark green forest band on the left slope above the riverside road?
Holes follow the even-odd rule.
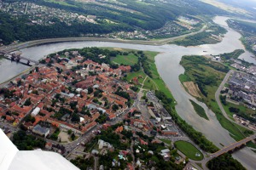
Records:
[[[104,26],[102,26],[91,23],[73,23],[72,26],[67,26],[67,24],[58,19],[55,20],[55,25],[51,26],[27,25],[26,22],[29,22],[26,16],[16,19],[0,11],[0,38],[3,44],[9,44],[16,40],[26,42],[44,38],[80,37],[82,34],[89,33],[103,34],[112,32],[113,30],[134,30],[131,26],[125,26],[125,24],[104,24]]]

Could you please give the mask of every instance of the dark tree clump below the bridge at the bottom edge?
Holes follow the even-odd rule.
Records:
[[[246,170],[245,167],[242,167],[239,161],[236,161],[230,154],[224,154],[222,156],[218,156],[213,158],[211,161],[207,162],[207,167],[210,170],[216,169],[239,169],[239,170]]]

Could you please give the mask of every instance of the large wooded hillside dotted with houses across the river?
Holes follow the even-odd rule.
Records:
[[[195,16],[204,14],[228,12],[190,0],[2,0],[0,39],[9,44],[49,37],[175,37],[198,31],[203,23]]]

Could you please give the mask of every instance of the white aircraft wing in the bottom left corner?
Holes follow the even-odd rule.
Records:
[[[43,150],[18,150],[0,129],[1,170],[78,170],[58,153]]]

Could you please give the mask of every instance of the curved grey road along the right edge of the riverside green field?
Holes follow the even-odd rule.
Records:
[[[223,107],[223,105],[222,105],[222,103],[221,103],[221,101],[220,101],[220,99],[219,99],[220,91],[224,88],[224,84],[228,81],[230,75],[233,74],[233,73],[234,73],[234,71],[233,71],[233,70],[230,70],[230,71],[226,74],[226,76],[224,77],[224,80],[221,82],[221,84],[220,84],[219,87],[218,87],[218,90],[217,90],[216,93],[215,93],[215,99],[216,99],[216,101],[217,101],[217,103],[218,103],[218,107],[220,108],[220,111],[223,113],[223,115],[224,115],[230,122],[234,122],[234,123],[236,123],[236,124],[239,125],[239,126],[245,127],[245,128],[247,128],[248,130],[252,130],[251,128],[246,127],[246,126],[244,126],[244,125],[241,125],[240,123],[238,123],[238,122],[233,121],[232,119],[230,119],[230,116],[228,116],[228,114],[227,114],[226,111],[224,110],[224,107]],[[253,131],[254,131],[254,130],[253,130]],[[254,132],[255,132],[255,131],[254,131]]]

